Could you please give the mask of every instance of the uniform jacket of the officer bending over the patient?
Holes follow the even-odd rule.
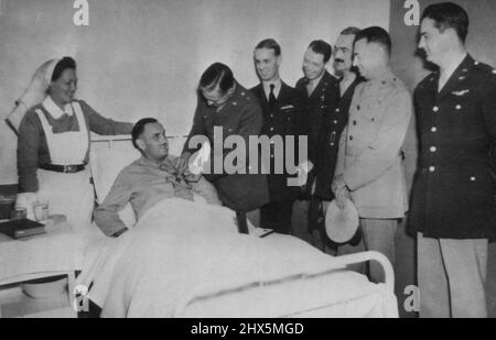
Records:
[[[231,152],[231,149],[224,149],[222,155],[215,154],[214,145],[214,128],[223,128],[223,140],[229,135],[240,135],[249,145],[249,136],[258,136],[263,123],[262,112],[258,100],[254,95],[236,85],[236,91],[227,100],[227,102],[217,110],[215,107],[208,107],[201,96],[193,119],[193,128],[184,145],[184,151],[190,153],[196,152],[200,147],[190,145],[190,140],[194,135],[205,135],[211,141],[214,157],[225,158]],[[249,153],[247,150],[247,157]],[[222,202],[237,211],[251,211],[269,201],[269,191],[267,185],[267,176],[250,174],[247,161],[246,174],[228,175],[211,174],[205,177],[211,180],[218,191]],[[214,169],[214,166],[212,166]]]

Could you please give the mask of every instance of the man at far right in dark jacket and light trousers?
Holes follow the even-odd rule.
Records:
[[[418,239],[421,317],[487,316],[496,72],[467,53],[467,32],[457,4],[432,4],[422,14],[419,47],[439,70],[414,92],[421,150],[409,229]]]

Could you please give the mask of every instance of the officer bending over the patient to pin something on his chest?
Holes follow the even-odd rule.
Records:
[[[179,172],[186,171],[190,157],[200,149],[198,145],[190,145],[194,136],[206,136],[214,145],[214,129],[223,128],[223,152],[216,154],[214,145],[212,158],[217,157],[224,161],[233,152],[224,147],[224,142],[229,135],[242,136],[248,146],[249,136],[258,138],[262,123],[263,117],[258,100],[236,81],[230,68],[220,63],[211,65],[200,80],[193,127],[183,153],[176,162]],[[249,158],[249,150],[246,155]],[[217,189],[220,201],[228,208],[242,213],[256,210],[269,201],[267,176],[258,171],[254,174],[249,168],[249,160],[246,165],[244,173],[229,174],[224,168],[220,173],[216,173],[214,165],[213,173],[205,174]]]

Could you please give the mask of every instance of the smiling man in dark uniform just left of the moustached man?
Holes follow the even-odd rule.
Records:
[[[301,78],[295,88],[303,94],[304,114],[309,127],[309,160],[313,171],[310,173],[306,188],[305,200],[302,202],[301,210],[306,216],[306,221],[302,224],[306,226],[306,230],[300,230],[301,237],[306,239],[314,245],[322,245],[317,240],[311,237],[311,233],[317,229],[317,218],[320,209],[320,199],[313,195],[316,189],[315,177],[317,173],[324,173],[325,167],[322,166],[321,142],[322,127],[325,121],[342,121],[338,109],[339,101],[339,83],[326,70],[326,65],[332,56],[332,47],[324,41],[313,41],[306,50],[303,58],[304,77]],[[338,136],[330,135],[328,142],[334,142],[337,146]]]

